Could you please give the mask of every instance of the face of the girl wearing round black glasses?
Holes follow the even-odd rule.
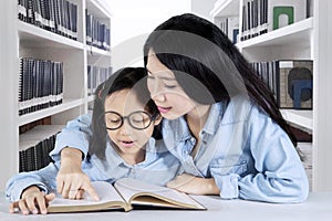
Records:
[[[131,90],[122,90],[118,92],[112,93],[110,96],[106,97],[105,101],[105,113],[106,112],[114,112],[117,113],[122,117],[127,117],[134,112],[146,112],[144,109],[145,105],[142,104],[135,92]],[[107,124],[117,124],[121,118],[116,117],[115,115],[105,114],[105,122]],[[135,158],[142,157],[144,150],[142,147],[151,138],[154,126],[157,124],[155,120],[145,128],[145,129],[135,129],[128,123],[128,118],[123,118],[123,125],[118,129],[107,129],[107,134],[113,143],[117,146],[117,150],[120,156],[125,158]],[[139,124],[142,120],[134,115],[134,124]],[[149,120],[149,118],[145,118],[145,120]],[[108,123],[107,123],[108,122]],[[143,155],[144,156],[144,155]]]

